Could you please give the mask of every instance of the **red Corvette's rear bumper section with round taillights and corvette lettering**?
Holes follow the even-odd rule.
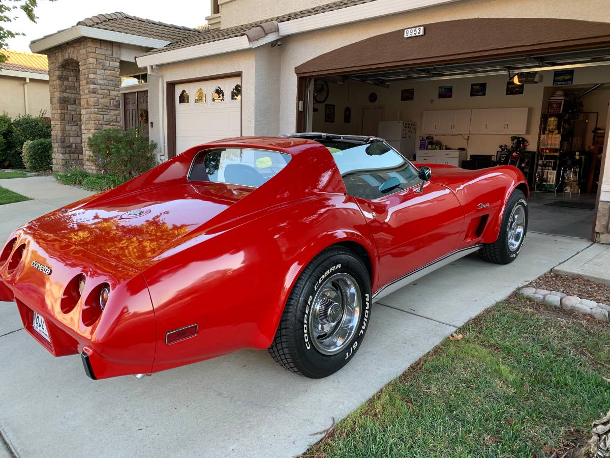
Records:
[[[81,353],[91,378],[151,371],[156,330],[145,280],[101,253],[27,225],[2,249],[0,300],[15,300],[24,328],[51,354]]]

